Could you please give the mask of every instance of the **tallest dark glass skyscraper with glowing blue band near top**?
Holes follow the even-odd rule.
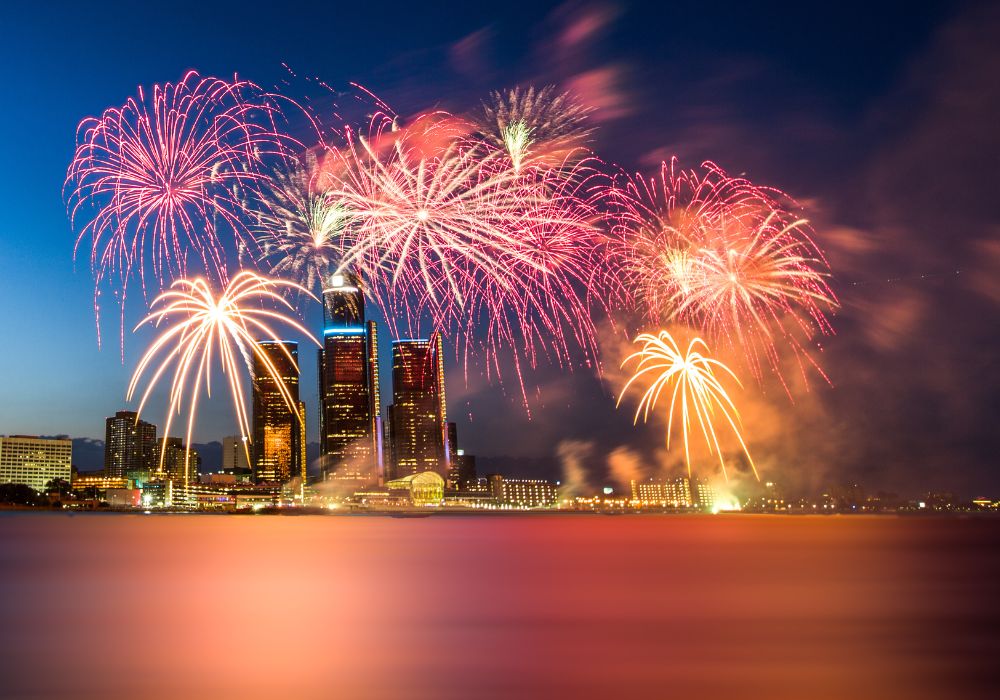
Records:
[[[322,478],[375,480],[382,455],[378,334],[375,322],[365,321],[354,275],[331,275],[323,290],[319,396]]]

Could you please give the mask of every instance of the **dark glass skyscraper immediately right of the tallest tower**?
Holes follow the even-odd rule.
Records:
[[[393,479],[425,471],[448,475],[445,405],[441,335],[394,341],[389,417]]]

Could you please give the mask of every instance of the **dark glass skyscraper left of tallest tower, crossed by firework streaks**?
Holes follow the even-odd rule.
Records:
[[[291,409],[289,409],[291,404]],[[253,475],[255,481],[285,483],[305,478],[299,401],[299,344],[257,343],[253,360]]]

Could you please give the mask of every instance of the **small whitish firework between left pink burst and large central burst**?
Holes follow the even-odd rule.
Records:
[[[258,244],[271,274],[313,290],[337,266],[348,217],[330,188],[311,153],[286,159],[260,183]]]

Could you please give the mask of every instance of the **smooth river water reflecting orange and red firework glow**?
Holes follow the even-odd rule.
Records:
[[[986,697],[1000,521],[0,513],[0,695]]]

